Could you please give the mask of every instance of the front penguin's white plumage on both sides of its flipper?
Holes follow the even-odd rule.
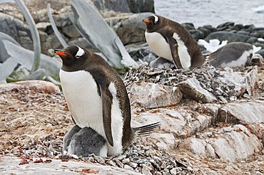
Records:
[[[107,140],[103,128],[102,100],[92,75],[85,70],[76,72],[60,70],[60,78],[68,108],[76,124],[79,127],[93,128]],[[112,83],[108,90],[113,96],[111,109],[113,147],[107,142],[108,155],[117,155],[123,152],[123,117],[116,98],[116,88]]]

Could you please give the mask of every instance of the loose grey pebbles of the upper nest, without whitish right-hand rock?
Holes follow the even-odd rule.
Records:
[[[225,79],[225,73],[233,71],[244,75],[245,73],[253,70],[254,66],[246,68],[214,68],[213,66],[205,65],[203,68],[196,68],[195,70],[183,70],[183,69],[161,69],[151,68],[147,65],[140,65],[137,68],[132,68],[124,77],[124,83],[129,90],[133,83],[146,82],[146,83],[158,83],[161,85],[177,86],[188,78],[196,78],[200,82],[200,86],[213,93],[220,102],[235,101],[238,97],[248,97],[245,94],[245,89],[236,90],[237,85],[235,83],[223,80]]]

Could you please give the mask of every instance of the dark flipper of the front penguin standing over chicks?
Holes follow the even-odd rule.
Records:
[[[102,107],[103,107],[103,129],[106,134],[106,139],[108,143],[113,147],[113,136],[112,136],[112,127],[111,127],[111,105],[112,99],[111,92],[105,86],[99,85],[101,98],[102,98]]]

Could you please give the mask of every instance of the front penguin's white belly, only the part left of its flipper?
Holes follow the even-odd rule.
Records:
[[[84,70],[60,70],[61,85],[71,115],[79,127],[91,127],[106,138],[103,132],[103,110],[96,82]]]

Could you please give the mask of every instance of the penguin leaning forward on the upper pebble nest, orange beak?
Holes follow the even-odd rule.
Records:
[[[146,23],[146,41],[158,56],[184,70],[203,65],[205,58],[198,43],[180,23],[158,15],[148,16],[143,22]]]

